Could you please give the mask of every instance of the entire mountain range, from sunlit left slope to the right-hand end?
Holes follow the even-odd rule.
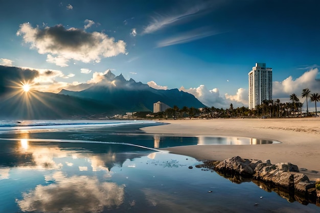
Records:
[[[84,88],[84,89],[83,89]],[[98,83],[51,92],[20,92],[15,96],[0,92],[1,119],[68,119],[112,116],[133,111],[153,111],[161,101],[170,107],[205,107],[192,94],[178,89],[154,89],[147,84],[115,76],[109,70]],[[82,89],[72,91],[72,89]],[[13,91],[11,91],[13,93]]]

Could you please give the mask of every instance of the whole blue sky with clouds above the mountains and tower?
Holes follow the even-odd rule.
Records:
[[[29,83],[40,91],[111,70],[226,108],[248,106],[248,73],[261,62],[273,69],[273,100],[303,102],[302,89],[320,93],[319,10],[317,0],[0,0],[0,65],[36,70]]]

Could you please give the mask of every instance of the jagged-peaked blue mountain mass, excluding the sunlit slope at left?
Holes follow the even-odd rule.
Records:
[[[176,105],[179,108],[205,107],[192,94],[178,89],[154,89],[147,84],[135,82],[132,78],[126,80],[123,75],[115,76],[109,70],[103,80],[87,87],[82,91],[70,91],[62,89],[59,94],[93,99],[104,104],[125,109],[126,111],[153,111],[153,103],[160,101],[170,107]]]

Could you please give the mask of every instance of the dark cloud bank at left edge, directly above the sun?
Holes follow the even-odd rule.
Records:
[[[39,72],[35,69],[0,65],[0,93],[6,92],[20,82],[32,81],[38,76]]]

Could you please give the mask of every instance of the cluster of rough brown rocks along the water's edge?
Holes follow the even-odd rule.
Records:
[[[290,162],[272,164],[270,160],[243,159],[239,156],[223,161],[206,161],[202,167],[215,170],[233,182],[252,180],[256,184],[267,184],[269,188],[283,188],[289,194],[296,193],[320,201],[320,179],[310,181]],[[313,203],[313,202],[312,202]]]

